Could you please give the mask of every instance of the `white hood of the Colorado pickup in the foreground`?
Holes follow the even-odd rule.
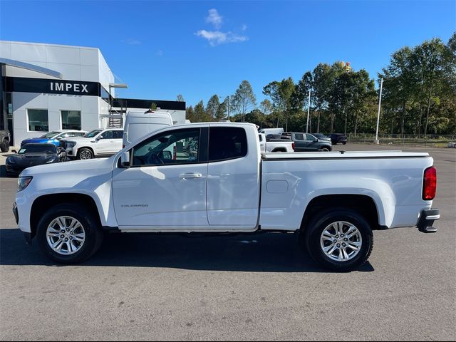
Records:
[[[112,170],[113,157],[110,157],[29,167],[21,173],[21,176],[49,175],[52,178],[63,177],[68,180],[71,177],[81,177],[81,175],[86,175],[87,177],[102,175]]]

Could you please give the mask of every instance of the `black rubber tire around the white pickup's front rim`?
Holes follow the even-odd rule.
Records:
[[[58,254],[48,244],[46,232],[49,224],[58,217],[71,217],[77,219],[83,227],[83,231],[86,234],[85,241],[83,242],[81,249],[74,254]],[[103,242],[103,231],[92,212],[87,207],[76,203],[63,203],[58,204],[43,214],[40,221],[38,222],[38,229],[36,232],[36,239],[38,247],[41,249],[46,257],[58,262],[59,264],[78,264],[82,261],[91,257],[101,246]]]

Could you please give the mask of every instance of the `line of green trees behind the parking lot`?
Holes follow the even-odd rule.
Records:
[[[456,33],[445,43],[432,38],[393,53],[383,78],[381,134],[456,133]],[[354,71],[348,63],[319,63],[297,82],[272,81],[263,87],[266,99],[257,103],[249,81],[242,81],[233,95],[212,97],[204,105],[187,107],[192,123],[249,122],[261,128],[286,131],[375,133],[380,89],[365,69]],[[310,108],[309,108],[310,93]],[[182,95],[178,99],[183,100]]]

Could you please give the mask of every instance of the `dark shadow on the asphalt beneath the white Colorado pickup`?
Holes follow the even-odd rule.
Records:
[[[1,265],[56,266],[19,229],[0,229]],[[168,267],[201,271],[327,272],[301,249],[296,234],[184,237],[180,234],[107,234],[81,266]],[[64,266],[63,266],[64,267]],[[371,272],[369,263],[358,271]]]

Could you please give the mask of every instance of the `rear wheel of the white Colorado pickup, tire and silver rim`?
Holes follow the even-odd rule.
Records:
[[[328,209],[317,214],[309,222],[304,239],[311,257],[334,271],[358,269],[373,249],[371,227],[352,209]]]

